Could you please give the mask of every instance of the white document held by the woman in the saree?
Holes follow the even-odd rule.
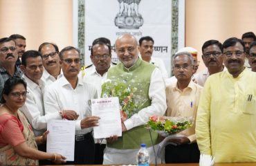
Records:
[[[47,123],[46,151],[61,154],[67,161],[74,160],[75,154],[75,121],[51,120]]]

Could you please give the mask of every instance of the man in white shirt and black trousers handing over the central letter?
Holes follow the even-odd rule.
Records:
[[[62,119],[65,118],[62,110],[75,111],[79,116],[75,123],[75,160],[67,163],[93,164],[94,140],[91,131],[92,127],[97,126],[99,117],[91,116],[89,100],[97,98],[97,91],[77,76],[81,68],[80,50],[67,46],[60,51],[60,60],[64,76],[46,89],[46,117],[50,114],[51,118]]]

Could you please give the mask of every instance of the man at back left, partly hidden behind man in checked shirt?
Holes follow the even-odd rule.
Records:
[[[16,49],[19,57],[17,59],[16,66],[19,67],[21,65],[21,57],[26,51],[26,38],[19,34],[10,35],[10,38],[16,43]]]

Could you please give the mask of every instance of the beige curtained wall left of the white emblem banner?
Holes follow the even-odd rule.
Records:
[[[72,6],[71,0],[0,0],[0,38],[24,35],[27,50],[43,42],[73,45]]]

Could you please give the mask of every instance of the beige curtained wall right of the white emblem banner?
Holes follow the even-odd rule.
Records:
[[[209,39],[223,43],[229,37],[241,37],[243,33],[256,33],[255,0],[186,0],[185,46],[199,50]]]

